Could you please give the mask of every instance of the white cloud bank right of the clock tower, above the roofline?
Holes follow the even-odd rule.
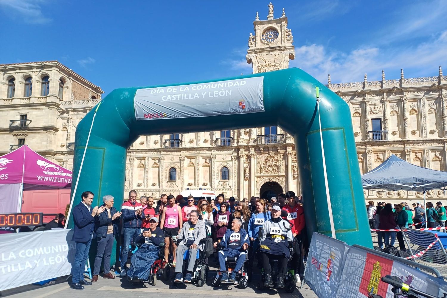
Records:
[[[327,82],[328,74],[334,83],[362,81],[365,73],[368,80],[380,80],[383,69],[385,74],[387,69],[407,68],[413,77],[413,73],[436,76],[436,67],[447,64],[446,49],[447,31],[415,46],[359,47],[341,52],[312,44],[296,48],[296,58],[290,62],[290,67],[299,67],[323,83]]]

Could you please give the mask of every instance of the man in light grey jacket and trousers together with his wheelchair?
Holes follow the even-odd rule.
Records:
[[[206,273],[208,267],[205,264],[196,264],[196,260],[200,252],[203,251],[203,241],[207,236],[205,223],[198,220],[198,211],[192,210],[190,213],[190,220],[183,224],[177,239],[177,260],[175,267],[174,283],[185,282],[190,283],[192,279],[197,281],[199,286],[202,286],[206,281]],[[187,259],[187,262],[184,260]],[[186,268],[183,268],[186,267]],[[186,269],[186,270],[185,270]],[[199,273],[196,271],[200,271]],[[185,279],[183,280],[183,273]],[[194,274],[194,277],[193,277]]]

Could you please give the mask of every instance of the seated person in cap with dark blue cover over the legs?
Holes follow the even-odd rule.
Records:
[[[152,217],[149,220],[149,228],[142,229],[142,232],[135,237],[135,244],[139,245],[138,250],[131,257],[131,267],[127,271],[127,277],[131,281],[148,280],[151,273],[152,264],[159,258],[159,252],[164,243],[164,232],[157,227],[158,218]]]

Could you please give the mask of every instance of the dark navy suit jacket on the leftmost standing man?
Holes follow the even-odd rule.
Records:
[[[90,206],[90,210],[93,206]],[[75,228],[73,230],[73,241],[87,242],[93,237],[93,231],[95,229],[95,218],[89,212],[89,209],[80,202],[73,208],[73,222]]]

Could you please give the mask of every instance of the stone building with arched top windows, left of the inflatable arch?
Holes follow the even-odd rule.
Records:
[[[100,87],[57,61],[0,65],[0,152],[21,143],[72,168],[76,126]]]

